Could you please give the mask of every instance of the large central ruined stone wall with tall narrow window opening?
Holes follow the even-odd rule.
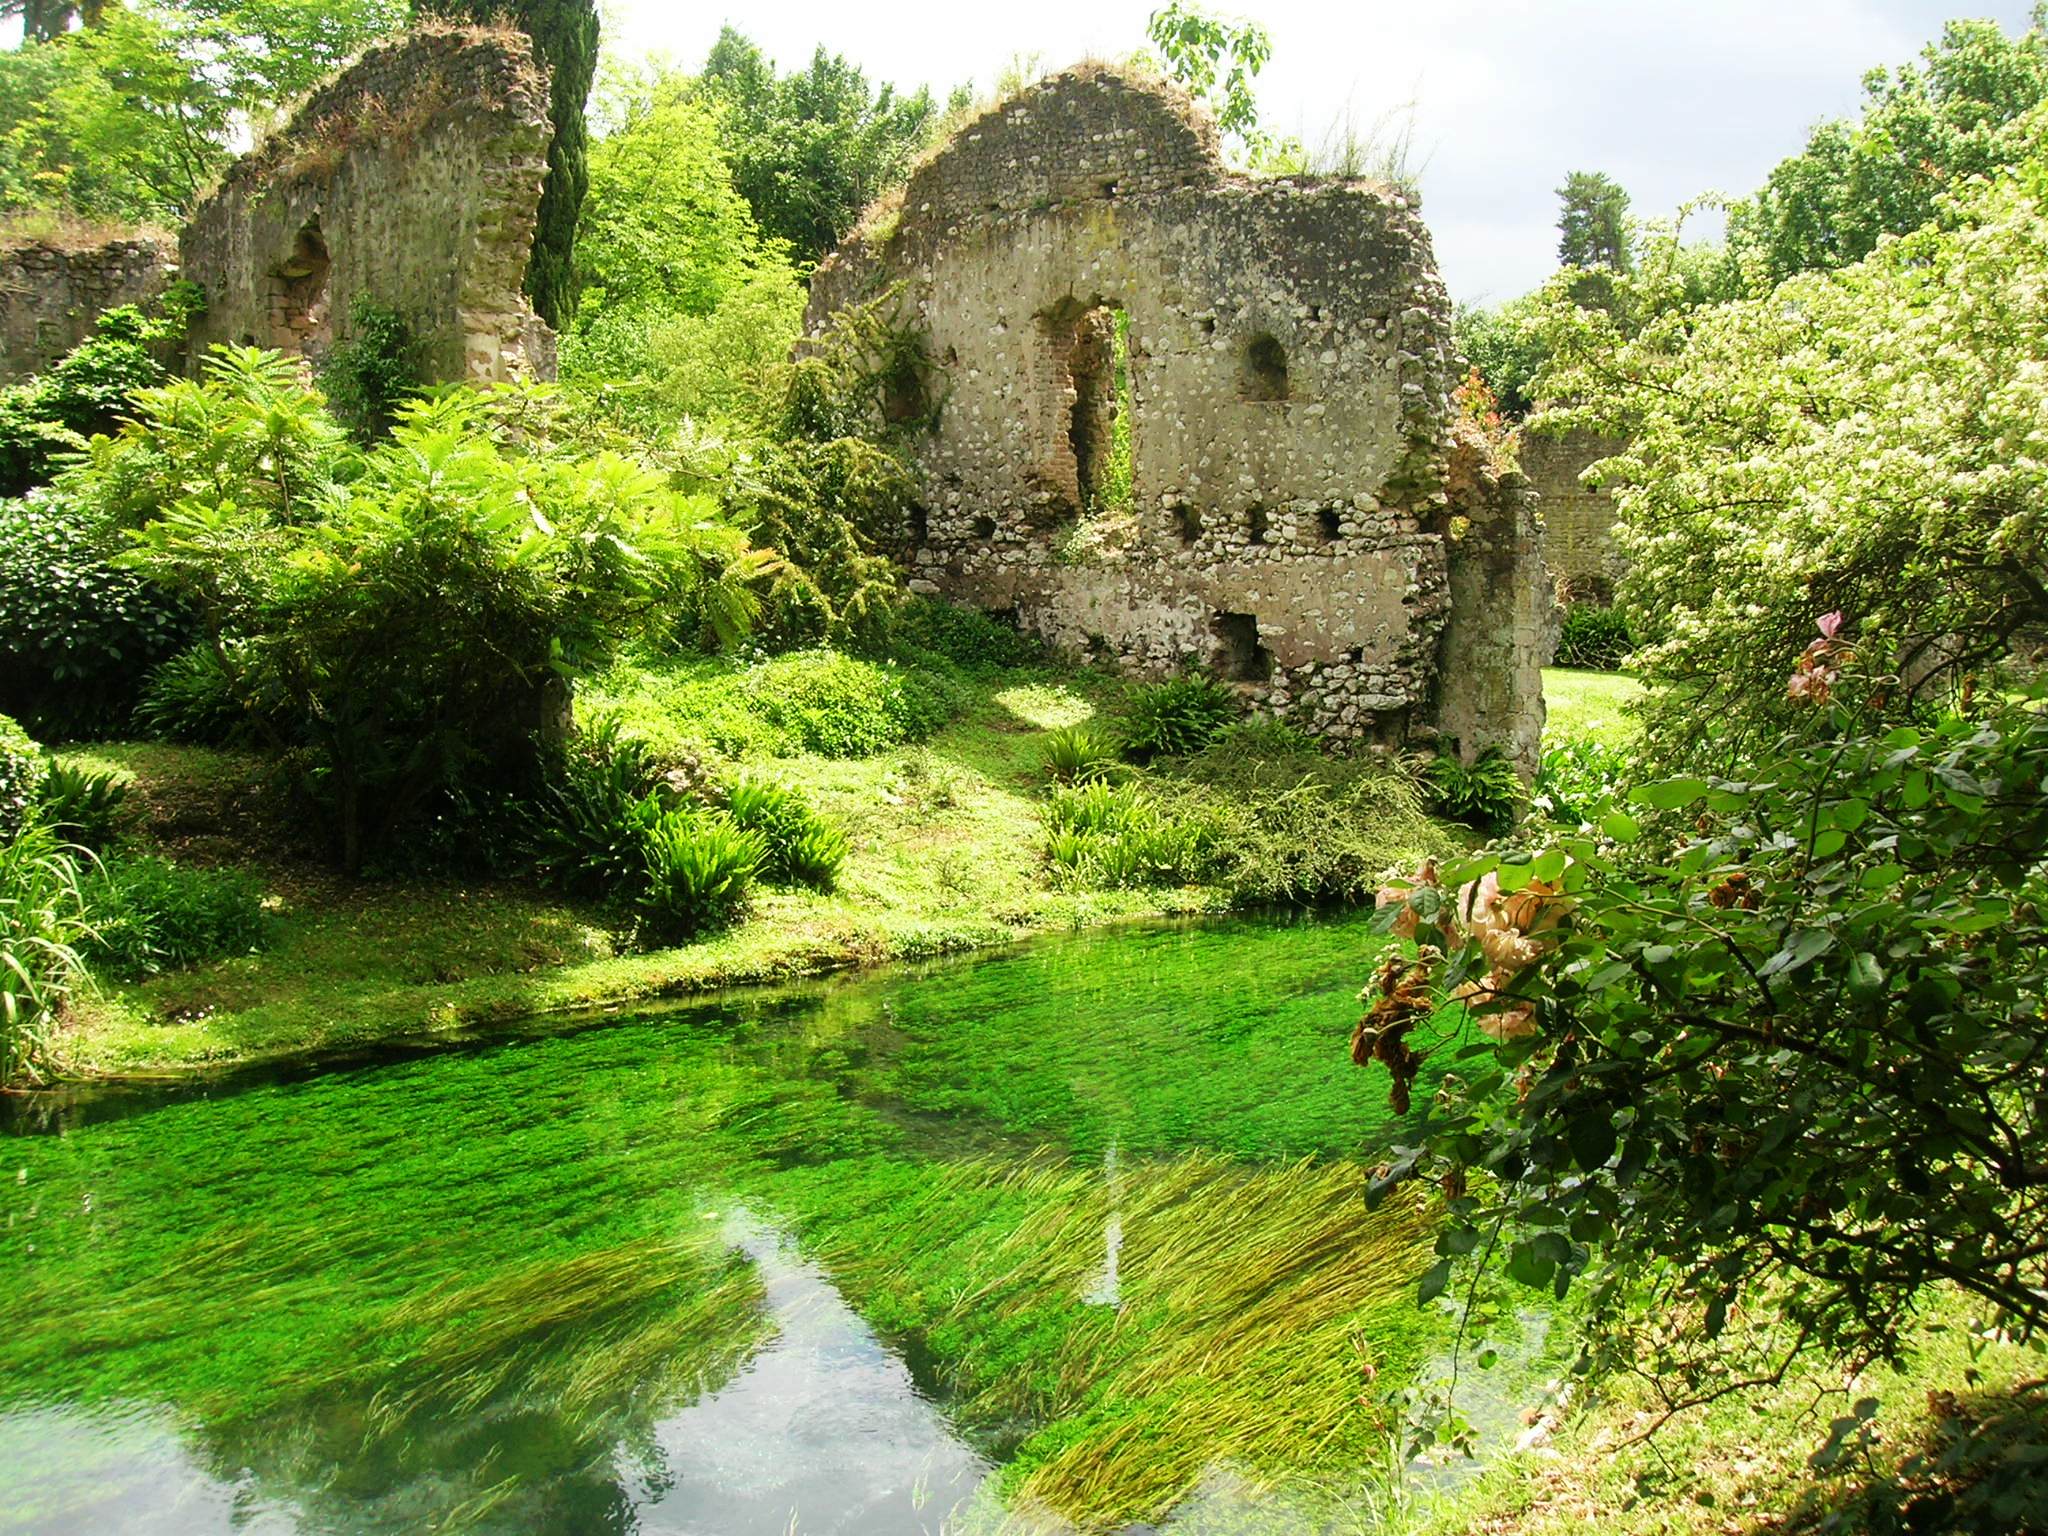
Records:
[[[1180,92],[1083,68],[870,211],[807,326],[874,299],[934,362],[913,588],[1317,735],[1534,766],[1534,498],[1470,446],[1452,473],[1448,301],[1401,193],[1233,176]]]

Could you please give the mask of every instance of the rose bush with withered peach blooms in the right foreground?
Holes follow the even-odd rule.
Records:
[[[1446,1196],[1423,1298],[1583,1286],[1575,1370],[1671,1411],[1896,1362],[1935,1284],[2048,1337],[2048,717],[1890,727],[1839,614],[1780,666],[1804,719],[1737,778],[1384,891],[1419,948],[1354,1040],[1403,1108],[1446,1063],[1370,1190]]]

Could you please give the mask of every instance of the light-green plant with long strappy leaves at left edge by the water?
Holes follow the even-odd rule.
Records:
[[[78,864],[57,836],[31,823],[0,838],[0,1083],[39,1075],[86,934]]]

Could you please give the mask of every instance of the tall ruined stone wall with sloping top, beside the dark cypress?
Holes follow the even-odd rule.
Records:
[[[553,375],[520,287],[547,174],[547,76],[506,27],[375,47],[229,166],[180,240],[213,342],[317,360],[358,293],[412,317],[436,379]]]

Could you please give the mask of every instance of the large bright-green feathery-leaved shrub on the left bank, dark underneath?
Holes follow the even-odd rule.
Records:
[[[274,352],[135,406],[61,487],[139,520],[125,561],[193,606],[348,870],[436,797],[516,782],[565,684],[678,604],[745,616],[717,508],[553,446],[520,391],[412,403],[367,453]]]

